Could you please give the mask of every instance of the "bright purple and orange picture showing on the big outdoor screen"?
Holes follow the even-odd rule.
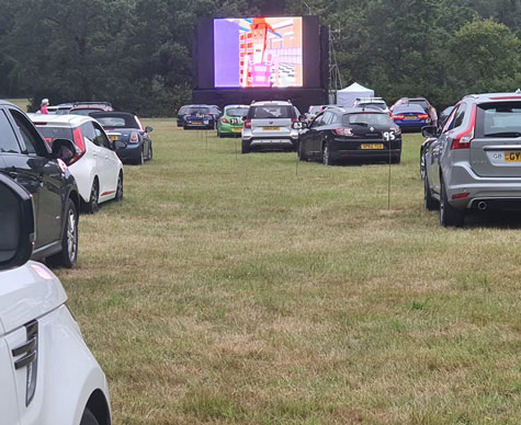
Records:
[[[215,87],[303,87],[302,33],[302,18],[214,20]]]

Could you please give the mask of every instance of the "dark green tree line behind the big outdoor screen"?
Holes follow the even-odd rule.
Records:
[[[3,0],[0,96],[172,116],[191,99],[197,19],[260,14],[318,15],[343,85],[387,102],[521,87],[521,0]]]

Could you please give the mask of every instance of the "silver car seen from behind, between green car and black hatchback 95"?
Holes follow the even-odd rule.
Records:
[[[242,153],[253,149],[295,150],[298,130],[293,128],[297,113],[291,102],[253,102],[242,128]]]

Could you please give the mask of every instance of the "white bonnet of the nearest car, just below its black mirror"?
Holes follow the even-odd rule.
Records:
[[[41,318],[67,301],[58,278],[43,264],[0,272],[0,336]]]

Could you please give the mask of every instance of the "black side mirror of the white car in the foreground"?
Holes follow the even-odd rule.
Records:
[[[25,264],[33,254],[33,200],[25,188],[0,173],[0,271]]]

